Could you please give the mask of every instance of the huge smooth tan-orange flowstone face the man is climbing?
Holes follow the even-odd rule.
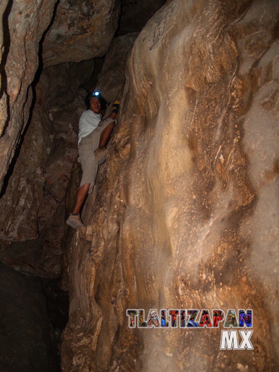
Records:
[[[64,371],[278,368],[278,17],[174,0],[136,40],[87,228],[67,236]],[[130,329],[128,308],[251,308],[254,350]]]

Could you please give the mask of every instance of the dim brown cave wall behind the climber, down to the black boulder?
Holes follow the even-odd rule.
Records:
[[[93,71],[94,60],[51,66],[36,85],[32,119],[0,200],[0,260],[23,273],[60,276],[65,191],[87,94],[79,86]]]

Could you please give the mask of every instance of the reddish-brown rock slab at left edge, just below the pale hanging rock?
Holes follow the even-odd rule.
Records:
[[[52,132],[45,107],[36,105],[13,174],[0,199],[1,245],[38,237],[37,216],[45,185],[43,167],[51,148]]]

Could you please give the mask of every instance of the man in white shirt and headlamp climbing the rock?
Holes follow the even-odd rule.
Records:
[[[80,211],[87,194],[93,190],[98,165],[106,160],[106,145],[116,125],[115,117],[119,110],[119,101],[113,103],[112,113],[102,120],[101,103],[98,92],[90,94],[86,99],[87,110],[81,114],[78,124],[78,161],[82,167],[82,179],[77,191],[73,213],[66,223],[77,229],[85,227],[80,218]]]

